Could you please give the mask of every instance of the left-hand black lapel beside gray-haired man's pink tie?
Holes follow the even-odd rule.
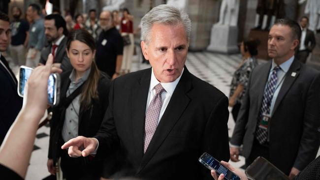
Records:
[[[151,72],[150,68],[141,76],[138,83],[132,88],[131,93],[132,142],[139,162],[143,156],[144,122]]]

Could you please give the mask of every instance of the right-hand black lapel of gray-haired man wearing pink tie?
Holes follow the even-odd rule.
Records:
[[[190,102],[190,98],[187,96],[186,92],[189,91],[192,87],[192,83],[189,76],[190,72],[185,67],[184,73],[172,94],[169,104],[164,111],[164,114],[159,122],[156,132],[149,144],[149,147],[142,158],[137,173],[139,173],[150,161],[150,159],[153,157],[153,155],[159,149],[165,138],[170,133],[173,126],[180,119],[181,115],[185,112]],[[141,147],[141,151],[142,150],[143,148]]]

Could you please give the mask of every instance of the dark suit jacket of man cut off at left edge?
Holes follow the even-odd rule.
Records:
[[[5,60],[1,55],[1,59]],[[0,145],[22,107],[18,95],[17,80],[12,80],[8,71],[0,64]]]

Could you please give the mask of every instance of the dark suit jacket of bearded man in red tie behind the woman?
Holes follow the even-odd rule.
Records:
[[[60,42],[57,49],[56,57],[55,57],[55,62],[61,63],[60,68],[64,72],[72,70],[73,68],[65,52],[66,40],[67,38],[64,37],[64,39]],[[51,53],[51,51],[52,51],[52,44],[50,43],[49,46],[43,48],[43,50],[41,51],[39,63],[46,64],[48,56]]]

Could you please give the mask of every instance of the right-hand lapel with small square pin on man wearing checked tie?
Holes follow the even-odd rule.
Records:
[[[279,94],[277,96],[276,102],[274,104],[273,112],[278,108],[280,102],[284,98],[284,96],[287,94],[288,90],[290,89],[292,83],[294,80],[299,76],[299,69],[300,64],[298,60],[293,60],[288,72],[286,73],[285,81],[283,82],[281,89],[279,91]],[[295,76],[291,76],[292,72],[295,72]]]

